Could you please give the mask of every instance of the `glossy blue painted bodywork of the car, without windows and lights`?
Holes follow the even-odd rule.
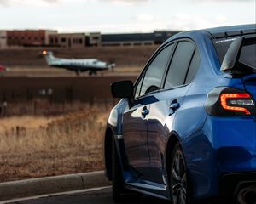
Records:
[[[219,195],[224,175],[256,172],[255,116],[209,116],[204,107],[207,94],[217,87],[245,90],[256,99],[256,75],[231,77],[219,71],[218,54],[212,44],[212,38],[224,37],[225,32],[251,31],[255,27],[183,32],[160,47],[189,39],[195,43],[201,61],[189,84],[160,88],[135,99],[133,105],[121,99],[114,107],[108,127],[114,135],[123,135],[116,144],[127,188],[170,199],[167,150],[172,133],[182,146],[195,198]],[[170,108],[172,102],[179,104],[175,111]],[[142,116],[145,108],[148,114]]]

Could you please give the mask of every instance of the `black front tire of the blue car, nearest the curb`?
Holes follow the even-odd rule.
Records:
[[[124,201],[124,182],[123,182],[123,176],[121,173],[121,167],[119,162],[119,157],[117,154],[116,145],[114,143],[114,140],[112,142],[112,195],[113,195],[113,201],[121,202]]]

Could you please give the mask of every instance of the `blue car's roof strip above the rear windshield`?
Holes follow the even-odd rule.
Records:
[[[207,31],[212,38],[235,37],[256,33],[256,24],[208,28],[203,31]]]

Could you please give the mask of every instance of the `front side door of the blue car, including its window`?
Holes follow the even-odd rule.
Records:
[[[123,115],[125,154],[134,178],[150,179],[148,154],[149,105],[156,101],[154,93],[160,88],[170,61],[173,44],[160,49],[148,62],[135,86],[135,100]]]

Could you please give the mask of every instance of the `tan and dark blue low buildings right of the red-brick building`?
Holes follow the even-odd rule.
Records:
[[[179,31],[154,31],[148,33],[56,33],[49,36],[49,46],[61,48],[152,46],[165,42]]]

